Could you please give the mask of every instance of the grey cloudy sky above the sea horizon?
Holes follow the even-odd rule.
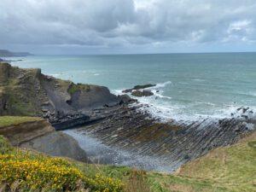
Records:
[[[0,0],[0,49],[256,51],[255,0]]]

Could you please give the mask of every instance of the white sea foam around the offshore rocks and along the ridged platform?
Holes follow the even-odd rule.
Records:
[[[224,118],[255,118],[256,119],[256,106],[250,107],[247,112],[242,113],[242,109],[238,104],[220,104],[215,102],[200,102],[200,101],[189,101],[184,102],[180,99],[173,99],[172,96],[165,96],[165,87],[172,84],[171,81],[165,83],[156,84],[154,87],[149,87],[145,90],[151,90],[153,96],[134,97],[131,93],[129,96],[138,100],[138,110],[151,114],[154,119],[159,119],[163,122],[177,121],[192,123],[195,121],[201,121],[204,119],[224,119]],[[169,88],[168,88],[169,89]],[[113,90],[116,95],[122,95],[122,90]],[[255,112],[255,113],[254,113]]]

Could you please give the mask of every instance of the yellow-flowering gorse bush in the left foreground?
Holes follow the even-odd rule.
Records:
[[[17,151],[0,154],[0,183],[19,182],[22,189],[50,189],[73,191],[90,189],[98,192],[119,192],[123,184],[110,177],[86,176],[83,172],[61,158],[43,154]]]

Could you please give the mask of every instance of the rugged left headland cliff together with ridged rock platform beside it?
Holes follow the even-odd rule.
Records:
[[[150,86],[154,84],[124,92]],[[56,130],[76,128],[106,146],[165,160],[172,171],[212,148],[236,143],[256,125],[247,108],[237,109],[240,115],[231,114],[230,119],[161,123],[140,107],[127,95],[114,96],[107,87],[73,84],[40,69],[0,63],[0,115],[40,116]]]

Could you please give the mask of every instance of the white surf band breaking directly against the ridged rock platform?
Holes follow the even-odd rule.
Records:
[[[154,119],[159,119],[162,122],[169,122],[175,120],[176,122],[186,122],[190,124],[195,121],[204,119],[224,119],[224,118],[244,118],[256,119],[256,107],[243,108],[241,106],[218,106],[210,102],[197,102],[191,105],[181,105],[178,103],[168,102],[154,102],[149,97],[138,99],[143,105],[139,110],[149,113]],[[193,110],[194,105],[203,104],[209,106],[204,110]],[[244,112],[244,110],[247,110]]]

